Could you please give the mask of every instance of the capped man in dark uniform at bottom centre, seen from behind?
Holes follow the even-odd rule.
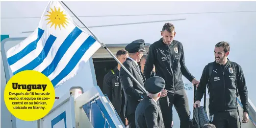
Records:
[[[151,77],[145,82],[145,89],[148,92],[136,108],[136,128],[164,128],[162,112],[157,104],[164,87],[164,79],[158,76]]]

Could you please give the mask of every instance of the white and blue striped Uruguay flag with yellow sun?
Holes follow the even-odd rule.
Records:
[[[74,77],[78,65],[86,62],[101,44],[81,30],[58,1],[49,2],[39,26],[6,55],[15,75],[36,70],[46,75],[56,88]]]

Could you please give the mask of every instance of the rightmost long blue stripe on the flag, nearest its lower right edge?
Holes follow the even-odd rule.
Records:
[[[69,63],[66,65],[66,67],[57,75],[52,81],[52,85],[57,85],[63,78],[65,78],[77,65],[77,63],[80,61],[84,53],[89,49],[89,47],[95,43],[96,40],[89,36],[85,42],[78,48],[77,52],[74,54],[74,56],[71,58]]]

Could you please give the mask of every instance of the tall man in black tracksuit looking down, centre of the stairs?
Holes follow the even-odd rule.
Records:
[[[174,25],[165,23],[161,31],[162,38],[149,48],[144,75],[146,79],[150,78],[153,66],[155,66],[156,76],[165,80],[166,85],[161,93],[162,98],[158,100],[165,128],[172,128],[173,105],[179,114],[180,128],[189,128],[188,98],[182,82],[182,75],[194,85],[199,84],[199,81],[188,71],[182,43],[174,40],[175,34]]]

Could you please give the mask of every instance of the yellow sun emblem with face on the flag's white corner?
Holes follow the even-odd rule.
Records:
[[[47,11],[47,12],[49,13],[49,15],[45,15],[45,16],[48,16],[49,18],[46,20],[50,20],[47,24],[51,23],[51,26],[55,24],[55,29],[57,25],[59,26],[59,29],[60,29],[60,25],[62,25],[65,28],[64,24],[66,24],[66,22],[69,23],[67,21],[67,18],[65,17],[67,15],[63,14],[64,11],[60,12],[59,8],[58,10],[56,10],[56,7],[54,6],[54,10],[51,8],[51,12],[50,11]]]

